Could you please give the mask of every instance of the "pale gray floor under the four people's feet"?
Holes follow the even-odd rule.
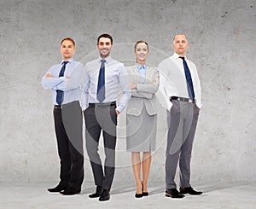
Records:
[[[49,194],[55,183],[1,183],[0,208],[256,208],[256,183],[222,183],[196,186],[204,194],[183,199],[165,197],[163,185],[149,184],[148,197],[136,199],[133,183],[114,183],[109,201],[90,199],[93,183],[84,182],[81,194]]]

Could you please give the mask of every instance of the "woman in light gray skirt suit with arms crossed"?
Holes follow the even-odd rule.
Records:
[[[151,152],[156,143],[156,98],[160,74],[146,64],[148,44],[135,44],[136,64],[127,67],[130,75],[131,100],[126,112],[126,148],[131,151],[133,174],[137,183],[135,197],[148,196],[147,182],[151,164]],[[140,152],[143,152],[141,160]],[[143,180],[141,179],[141,168]]]

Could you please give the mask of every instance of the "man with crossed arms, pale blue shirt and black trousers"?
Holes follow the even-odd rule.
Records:
[[[73,59],[73,38],[61,41],[62,61],[42,78],[44,89],[52,91],[55,135],[60,157],[60,183],[48,189],[64,195],[79,194],[84,180],[83,115],[80,107],[84,65]]]

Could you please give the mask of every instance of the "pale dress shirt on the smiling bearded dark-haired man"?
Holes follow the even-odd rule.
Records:
[[[96,99],[98,77],[101,67],[101,58],[88,62],[84,67],[84,87],[82,94],[82,109],[86,109],[89,103],[99,103]],[[124,64],[113,60],[111,57],[105,59],[105,100],[102,103],[117,100],[119,87],[122,96],[117,104],[116,110],[122,112],[131,98],[129,75]]]

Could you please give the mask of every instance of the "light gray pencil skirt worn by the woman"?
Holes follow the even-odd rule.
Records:
[[[139,116],[127,114],[126,117],[126,149],[131,152],[151,152],[156,144],[157,116],[148,115],[143,107]]]

